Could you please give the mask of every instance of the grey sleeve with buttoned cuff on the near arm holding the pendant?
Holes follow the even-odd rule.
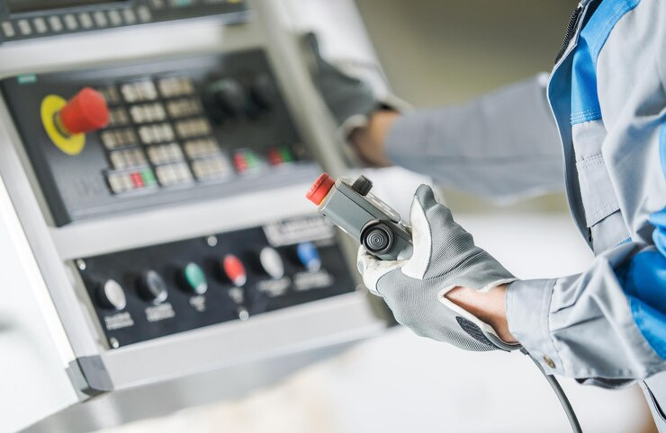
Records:
[[[509,331],[546,373],[616,388],[666,369],[636,326],[614,269],[636,252],[626,243],[599,255],[582,274],[511,283]]]

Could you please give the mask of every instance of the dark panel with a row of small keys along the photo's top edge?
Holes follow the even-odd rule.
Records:
[[[0,43],[205,15],[242,21],[242,0],[3,0]]]

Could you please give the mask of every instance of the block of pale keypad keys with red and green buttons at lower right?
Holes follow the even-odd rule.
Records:
[[[187,76],[144,78],[97,90],[109,105],[109,125],[100,138],[114,194],[228,181],[294,159],[288,146],[265,153],[243,148],[229,158],[229,149],[212,136],[211,123]]]

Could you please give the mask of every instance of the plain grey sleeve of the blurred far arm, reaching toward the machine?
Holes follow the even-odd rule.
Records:
[[[417,110],[386,139],[393,163],[492,199],[562,190],[563,155],[546,75],[460,106]]]

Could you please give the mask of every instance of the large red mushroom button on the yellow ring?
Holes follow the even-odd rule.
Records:
[[[68,134],[104,128],[109,123],[109,107],[102,93],[85,87],[58,113],[59,125]]]

